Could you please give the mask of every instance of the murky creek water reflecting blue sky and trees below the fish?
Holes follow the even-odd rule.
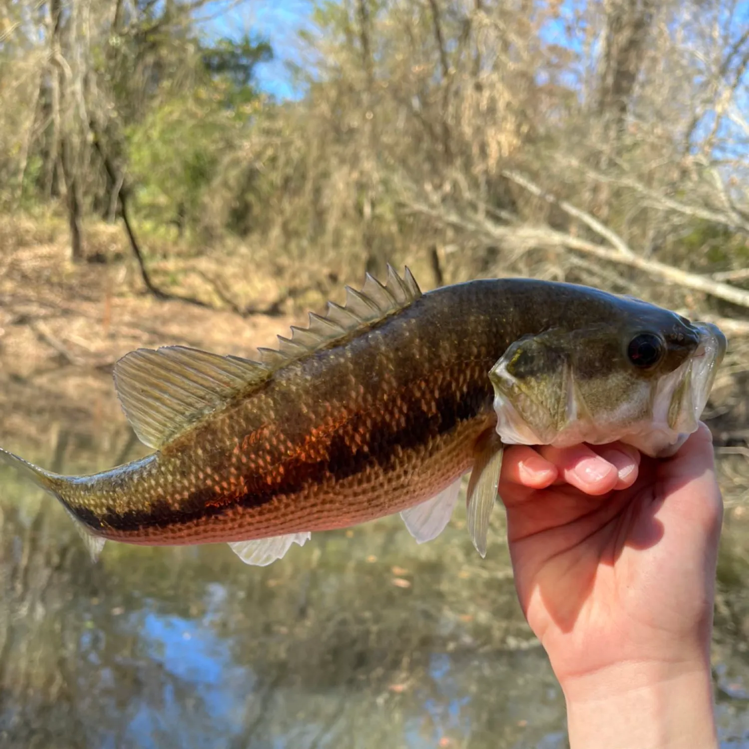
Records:
[[[62,442],[40,462],[75,471],[114,463],[127,437],[109,440],[112,455]],[[52,500],[9,472],[0,487],[3,747],[566,746],[562,695],[515,600],[499,517],[485,561],[458,517],[423,546],[395,518],[318,534],[268,568],[225,545],[112,544],[91,565]],[[726,747],[749,746],[737,554],[722,557],[716,619]]]

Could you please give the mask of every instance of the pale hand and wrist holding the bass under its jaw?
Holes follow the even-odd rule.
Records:
[[[673,458],[622,444],[506,450],[500,496],[523,611],[571,749],[712,749],[723,503],[705,425]]]

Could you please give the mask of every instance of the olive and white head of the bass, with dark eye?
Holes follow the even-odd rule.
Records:
[[[621,440],[664,457],[697,430],[725,336],[632,297],[610,298],[595,315],[562,311],[554,327],[518,339],[491,369],[504,443]]]

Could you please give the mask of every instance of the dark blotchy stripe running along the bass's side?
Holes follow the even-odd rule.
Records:
[[[145,528],[173,527],[223,515],[229,509],[253,509],[273,500],[279,494],[297,494],[311,484],[318,484],[333,476],[336,480],[346,479],[359,473],[368,465],[376,465],[387,473],[395,467],[396,455],[428,440],[440,437],[456,428],[458,423],[476,418],[479,413],[491,407],[492,391],[485,383],[472,382],[464,393],[449,392],[437,401],[437,412],[429,415],[421,407],[414,407],[407,413],[407,422],[401,428],[394,428],[391,422],[382,419],[369,431],[367,452],[352,449],[342,434],[334,434],[328,445],[328,459],[309,463],[289,461],[285,464],[282,478],[274,485],[268,485],[265,475],[248,476],[248,491],[226,503],[216,503],[216,491],[206,487],[192,492],[179,510],[174,510],[163,500],[153,502],[148,509],[133,510],[118,514],[112,510],[100,518],[90,509],[71,507],[74,514],[93,528],[128,532]],[[366,416],[357,416],[351,422],[355,431]],[[357,423],[359,420],[359,423]]]

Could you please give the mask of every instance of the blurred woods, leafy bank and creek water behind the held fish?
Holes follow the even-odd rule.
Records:
[[[386,262],[424,289],[535,276],[716,321],[729,351],[705,413],[727,505],[712,657],[721,736],[746,739],[749,3],[276,6],[292,2],[309,21],[294,54],[288,34],[242,21],[259,1],[0,0],[0,444],[69,473],[136,458],[118,357],[252,357]],[[260,83],[273,55],[294,61],[293,97]],[[466,533],[416,549],[383,520],[247,577],[217,547],[112,545],[91,565],[64,510],[14,481],[3,746],[395,746],[410,716],[429,729],[422,694],[445,715],[474,695],[460,703],[471,746],[562,745],[503,513],[487,560]],[[430,676],[434,653],[449,674]],[[451,724],[428,745],[460,736]]]

